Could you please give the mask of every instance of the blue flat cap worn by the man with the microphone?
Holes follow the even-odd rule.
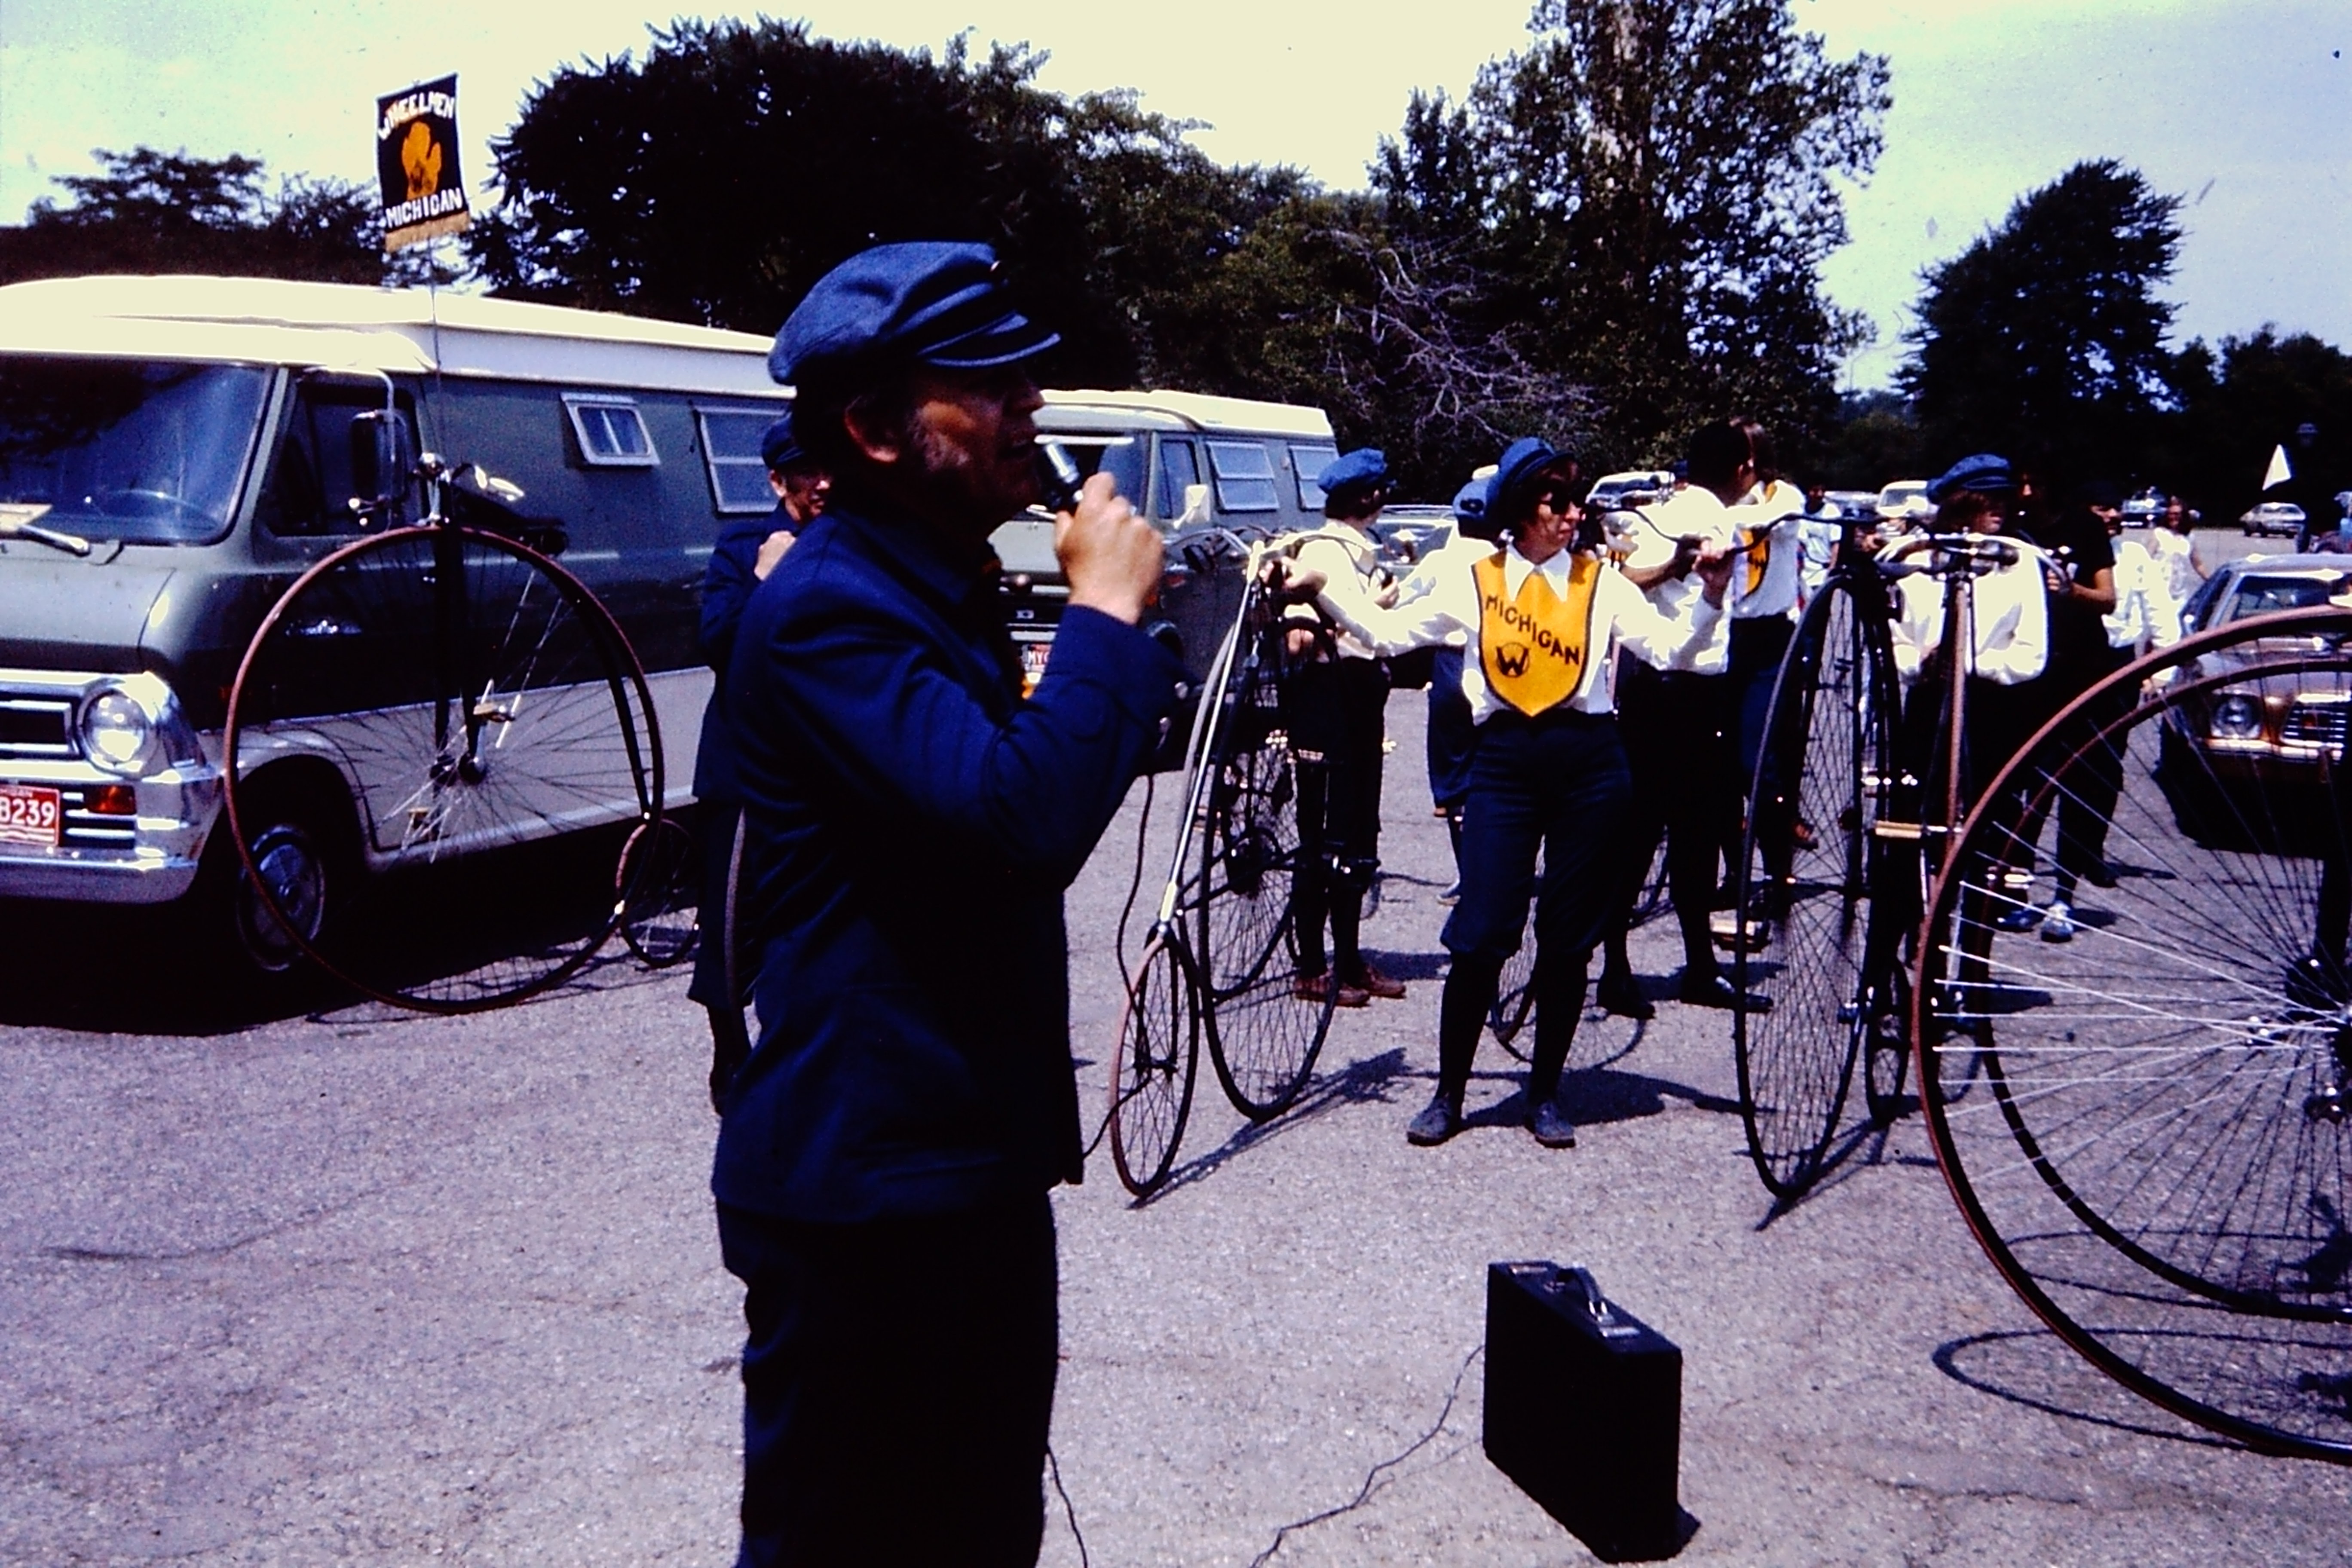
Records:
[[[898,364],[988,369],[1040,355],[1061,334],[1014,308],[985,244],[875,244],[816,280],[793,308],[767,374],[800,383]]]

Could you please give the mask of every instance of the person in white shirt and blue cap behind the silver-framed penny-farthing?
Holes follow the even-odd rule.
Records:
[[[1322,576],[1327,599],[1369,609],[1390,588],[1371,531],[1388,501],[1388,458],[1378,447],[1357,447],[1327,463],[1315,484],[1324,494],[1324,527],[1301,541],[1298,569]],[[1381,872],[1388,668],[1343,625],[1322,623],[1310,604],[1294,604],[1284,618],[1291,670],[1282,682],[1282,722],[1298,757],[1291,889],[1298,994],[1319,1001],[1334,987],[1338,1006],[1399,999],[1404,980],[1376,969],[1362,947],[1364,893]]]

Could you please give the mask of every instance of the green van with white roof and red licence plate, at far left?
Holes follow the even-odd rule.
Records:
[[[367,527],[416,520],[414,494],[355,510],[374,489],[360,437],[390,423],[520,487],[510,531],[562,550],[628,635],[666,745],[666,804],[684,804],[710,693],[703,564],[727,517],[774,505],[760,435],[790,404],[767,348],[318,282],[0,289],[0,515],[14,520],[0,529],[0,797],[26,818],[0,832],[0,900],[183,905],[198,933],[233,933],[228,961],[292,961],[282,940],[256,945],[256,896],[221,830],[228,691],[306,567]],[[320,646],[320,668],[329,651],[367,654]],[[245,823],[249,839],[282,818],[278,839],[299,839],[329,891],[414,858],[369,830],[400,802],[376,799],[381,780],[355,759],[367,717],[329,705],[240,755],[240,797],[268,818]],[[564,825],[593,827],[640,802],[583,790],[572,806]],[[325,877],[329,865],[360,877]]]

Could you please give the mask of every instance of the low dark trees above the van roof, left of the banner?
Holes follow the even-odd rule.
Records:
[[[235,273],[381,282],[388,268],[374,190],[289,176],[270,193],[263,162],[99,148],[101,174],[61,174],[71,202],[33,202],[0,228],[0,280],[80,273]]]

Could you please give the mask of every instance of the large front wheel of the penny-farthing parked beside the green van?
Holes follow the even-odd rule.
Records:
[[[362,538],[296,578],[238,668],[223,752],[270,936],[435,1013],[576,973],[619,919],[621,839],[661,813],[621,628],[548,557],[461,527]],[[576,832],[609,837],[579,853]]]

